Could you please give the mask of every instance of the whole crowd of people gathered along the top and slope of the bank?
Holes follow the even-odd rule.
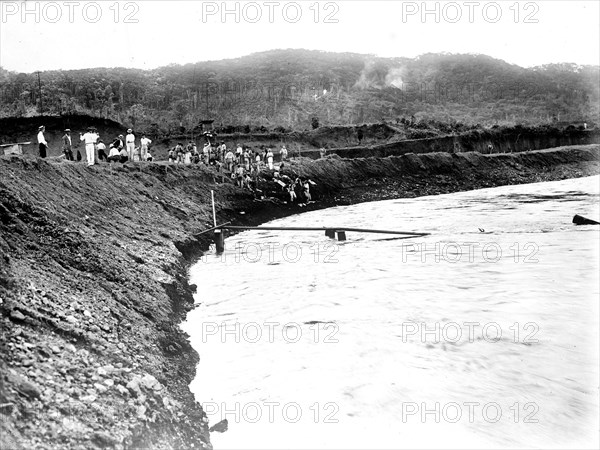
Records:
[[[48,143],[44,136],[45,127],[38,129],[38,145],[40,157],[47,155]],[[198,150],[195,142],[186,145],[178,143],[168,152],[168,161],[171,164],[204,164],[214,167],[222,177],[230,177],[233,182],[241,188],[260,192],[259,183],[264,180],[263,175],[272,179],[281,186],[282,191],[289,197],[290,202],[308,203],[312,200],[310,194],[311,185],[314,183],[308,179],[296,178],[292,180],[289,176],[282,174],[288,161],[288,150],[285,145],[279,150],[280,163],[275,164],[275,153],[270,147],[262,151],[253,150],[246,145],[237,144],[235,148],[228,148],[225,142],[215,142],[215,135],[204,133],[206,144]],[[108,163],[126,163],[127,161],[153,161],[150,154],[152,140],[145,134],[136,141],[136,136],[130,128],[127,134],[116,136],[106,147],[100,138],[98,130],[88,127],[85,133],[79,133],[78,142],[83,143],[84,155],[79,150],[74,153],[76,143],[71,137],[71,130],[65,129],[62,137],[62,151],[65,159],[69,161],[84,160],[88,166],[93,166],[99,161]]]

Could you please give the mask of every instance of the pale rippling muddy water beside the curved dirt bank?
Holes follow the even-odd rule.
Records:
[[[598,447],[599,178],[332,208],[192,270],[215,448]]]

